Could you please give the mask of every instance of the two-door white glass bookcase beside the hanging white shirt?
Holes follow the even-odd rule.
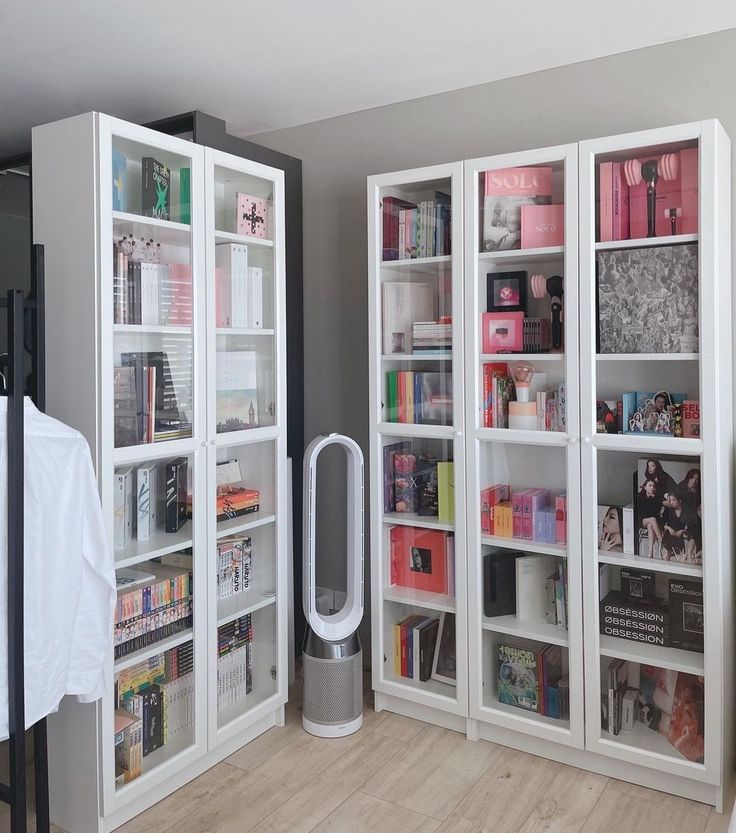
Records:
[[[113,207],[113,159],[121,157],[125,204]],[[169,168],[169,219],[144,216],[144,157]],[[67,699],[49,721],[52,820],[73,833],[91,833],[119,827],[283,722],[288,615],[283,174],[98,113],[35,128],[33,161],[34,237],[45,246],[48,274],[48,412],[82,431],[90,444],[116,569],[146,573],[158,568],[152,559],[163,558],[183,570],[191,564],[192,573],[191,627],[173,627],[165,638],[118,658],[111,651],[105,697],[87,705]],[[265,238],[236,233],[239,193],[265,201],[255,204],[255,213],[267,220]],[[130,235],[136,242],[152,240],[160,263],[169,265],[158,273],[158,309],[149,299],[147,324],[130,323],[130,314],[122,312],[120,281],[113,278],[119,274],[113,244]],[[229,301],[238,309],[245,301],[222,289],[223,274],[216,268],[221,243],[245,247],[248,265],[261,270],[260,304],[256,290],[255,299],[249,296],[248,318],[240,322],[248,326],[231,327],[233,319],[222,308],[223,298],[225,306]],[[249,280],[252,285],[256,278]],[[145,400],[143,408],[134,402],[135,418],[126,422],[119,395],[125,373],[119,368],[136,362],[161,368],[169,381],[155,408]],[[235,381],[225,388],[228,362],[235,365]],[[152,414],[141,420],[141,411]],[[147,540],[134,533],[121,545],[115,537],[116,474],[150,463],[165,475],[166,464],[181,458],[191,510],[186,522],[173,532],[154,527]],[[232,517],[218,520],[217,496],[228,491],[221,487],[228,478],[217,466],[225,461],[237,461],[240,480],[258,496],[250,496],[253,511],[228,510]],[[156,497],[162,500],[163,490]],[[222,503],[219,513],[225,514]],[[249,582],[219,598],[218,543],[233,535],[245,551],[250,547]],[[218,629],[238,620],[246,633],[239,656],[249,655],[251,671],[248,681],[243,659],[235,696],[234,672],[226,677],[220,666],[218,674],[219,643],[229,636],[232,645],[232,633],[222,631],[218,638]],[[162,661],[154,659],[162,654],[164,677]],[[164,684],[174,661],[180,676],[191,666],[188,716],[178,718],[177,731],[143,756],[140,774],[124,783],[116,779],[114,743],[120,675],[148,662],[159,669],[153,682]],[[222,688],[230,696],[218,698]]]

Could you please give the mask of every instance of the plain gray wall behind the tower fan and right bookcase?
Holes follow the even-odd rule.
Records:
[[[736,141],[734,77],[729,30],[249,137],[303,160],[306,438],[368,450],[366,176],[711,117]],[[338,582],[341,486],[319,518]]]

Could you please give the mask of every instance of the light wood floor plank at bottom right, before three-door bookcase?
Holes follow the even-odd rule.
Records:
[[[703,833],[710,807],[609,780],[582,833]]]

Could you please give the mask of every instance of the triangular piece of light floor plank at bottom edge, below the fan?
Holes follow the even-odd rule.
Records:
[[[435,833],[440,822],[358,791],[312,833]]]

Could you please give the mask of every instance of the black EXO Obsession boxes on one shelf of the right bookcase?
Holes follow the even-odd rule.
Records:
[[[664,577],[667,597],[657,592],[656,573],[621,568],[620,590],[611,590],[611,565],[599,572],[600,632],[662,648],[703,653],[702,581]]]

